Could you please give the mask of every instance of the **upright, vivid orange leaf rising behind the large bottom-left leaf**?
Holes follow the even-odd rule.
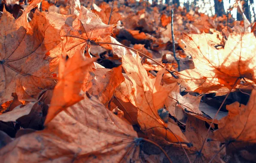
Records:
[[[80,94],[88,68],[95,59],[87,58],[80,51],[76,51],[69,58],[63,48],[63,56],[59,63],[58,84],[54,88],[52,101],[45,124],[52,120],[59,112],[83,99]]]

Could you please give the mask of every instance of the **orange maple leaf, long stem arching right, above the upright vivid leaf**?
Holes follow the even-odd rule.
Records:
[[[68,56],[71,57],[77,50],[84,52],[90,40],[110,35],[115,26],[116,24],[104,24],[98,15],[81,6],[79,16],[72,25],[66,24],[61,30]]]

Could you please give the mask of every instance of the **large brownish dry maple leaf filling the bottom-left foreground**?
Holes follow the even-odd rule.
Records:
[[[98,100],[85,97],[58,114],[42,131],[0,149],[3,162],[137,162],[140,138]]]

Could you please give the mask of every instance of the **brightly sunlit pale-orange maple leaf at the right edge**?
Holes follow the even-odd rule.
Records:
[[[184,41],[195,64],[195,69],[179,72],[179,81],[187,91],[224,95],[232,87],[241,86],[236,82],[238,78],[249,83],[256,81],[253,33],[231,33],[224,48],[220,48],[216,34],[184,33]]]

